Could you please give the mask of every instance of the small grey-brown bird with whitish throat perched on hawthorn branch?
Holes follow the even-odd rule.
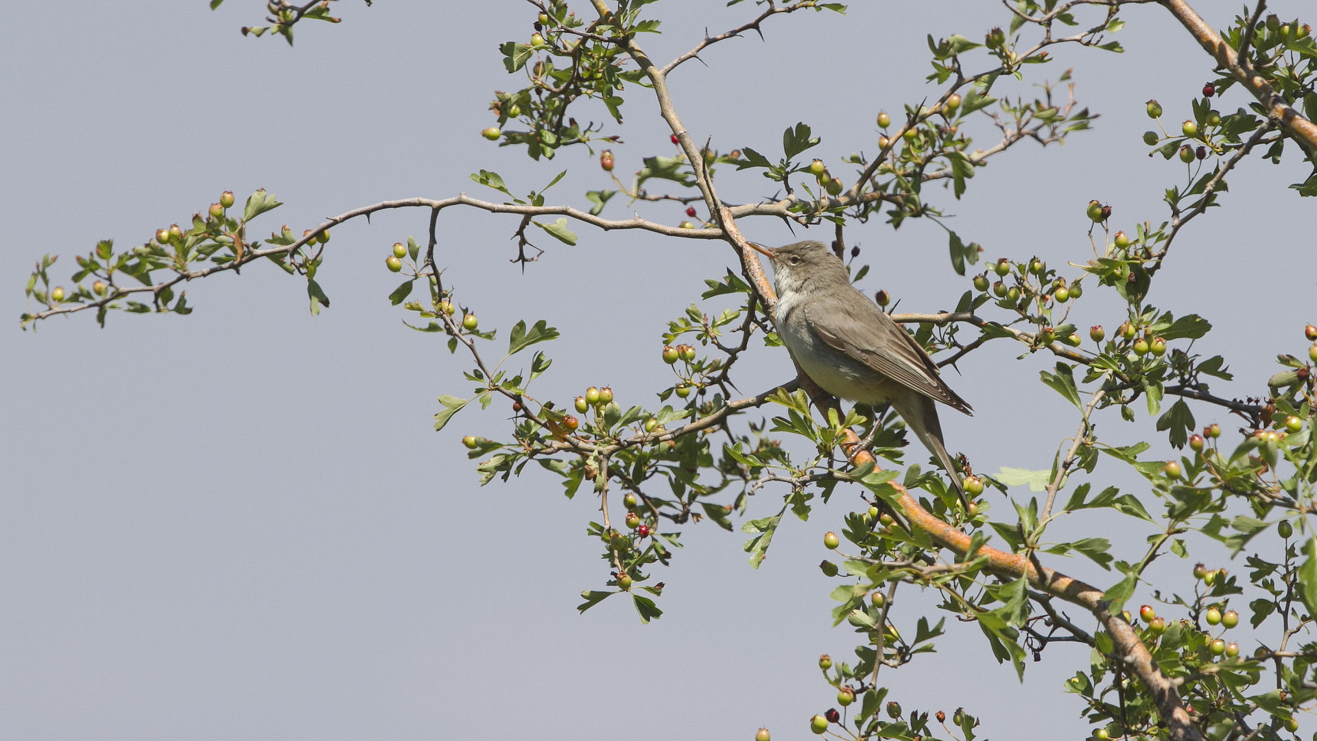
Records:
[[[773,319],[792,357],[835,397],[868,405],[890,402],[947,469],[965,502],[935,402],[969,415],[973,410],[942,381],[923,347],[851,285],[842,260],[823,243],[798,241],[772,251],[753,247],[773,262]]]

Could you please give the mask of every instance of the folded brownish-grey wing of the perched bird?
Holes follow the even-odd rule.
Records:
[[[805,316],[828,345],[914,392],[973,414],[965,400],[942,381],[938,364],[923,347],[860,291],[847,286],[811,301]]]

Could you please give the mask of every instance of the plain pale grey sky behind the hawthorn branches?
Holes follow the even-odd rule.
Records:
[[[577,204],[605,185],[583,149],[531,163],[478,136],[491,91],[519,84],[497,45],[529,36],[527,4],[348,1],[341,25],[299,26],[295,49],[238,34],[262,5],[0,9],[11,29],[0,47],[0,306],[11,319],[0,332],[0,736],[658,740],[749,738],[760,725],[784,741],[807,736],[809,716],[835,697],[818,654],[847,657],[857,643],[830,628],[835,581],[817,567],[820,534],[838,529],[853,494],[807,523],[786,522],[759,571],[745,564],[745,535],[687,527],[685,550],[658,570],[666,614],[648,626],[622,600],[578,616],[578,592],[606,579],[585,538],[593,497],[566,501],[539,471],[479,488],[458,438],[498,435],[499,405],[431,430],[435,397],[469,390],[465,363],[402,326],[386,299],[396,277],[382,265],[390,244],[424,232],[425,214],[336,229],[320,273],[333,306],[317,318],[299,280],[257,265],[188,286],[191,316],[112,315],[101,331],[79,315],[18,331],[41,253],[63,256],[55,273],[66,281],[72,256],[97,239],[144,241],[225,189],[240,198],[269,189],[286,202],[266,216],[270,228],[302,229],[382,199],[475,194],[468,174],[482,167],[528,190],[572,166],[551,196]],[[1237,9],[1197,5],[1218,28]],[[755,12],[695,0],[651,8],[665,30],[644,38],[656,59],[690,47],[706,25],[716,32]],[[1167,121],[1181,120],[1210,62],[1160,8],[1125,17],[1126,54],[1056,49],[1051,69],[1026,80],[1073,66],[1081,105],[1102,116],[1096,131],[1064,148],[1021,145],[963,202],[942,198],[988,257],[1084,261],[1092,198],[1110,202],[1126,228],[1166,218],[1160,194],[1181,170],[1144,156],[1143,102],[1158,98]],[[785,127],[806,121],[823,137],[819,156],[836,162],[874,149],[878,109],[934,95],[923,84],[926,33],[976,38],[1008,21],[986,1],[871,1],[846,17],[777,18],[766,42],[726,42],[705,54],[707,67],[682,67],[674,98],[697,140],[776,150]],[[1033,95],[1027,84],[1004,90]],[[612,148],[622,173],[670,146],[644,91],[627,92],[626,144]],[[1246,104],[1231,91],[1220,107]],[[979,131],[980,145],[993,141]],[[723,178],[728,199],[772,194],[757,174]],[[1293,163],[1246,163],[1154,289],[1160,306],[1216,324],[1201,347],[1227,355],[1238,381],[1222,384],[1225,394],[1259,390],[1274,353],[1301,351],[1299,332],[1317,316],[1313,200],[1285,187],[1301,178]],[[647,212],[682,218],[676,206]],[[626,204],[606,214],[626,215]],[[848,233],[874,265],[864,285],[886,287],[903,309],[951,307],[968,278],[950,270],[943,232],[910,222],[893,233],[877,222]],[[579,227],[578,247],[547,244],[523,274],[507,261],[515,222],[448,211],[441,224],[449,280],[483,327],[544,318],[562,332],[547,345],[556,361],[541,381],[562,400],[608,384],[622,401],[652,403],[668,384],[657,363],[666,318],[732,264],[719,243]],[[743,228],[768,244],[790,239],[776,223]],[[1118,307],[1093,301],[1077,323],[1114,327]],[[1077,423],[1036,381],[1048,359],[1015,363],[1017,353],[989,345],[948,378],[976,409],[972,419],[944,415],[948,447],[986,471],[1047,465]],[[790,377],[785,352],[755,359],[743,390]],[[1100,421],[1113,442],[1150,430],[1114,413]],[[1097,480],[1142,492],[1110,461]],[[770,501],[751,517],[776,512],[777,496],[759,494]],[[1126,521],[1062,525],[1108,526],[1122,534],[1118,556],[1143,547],[1146,533]],[[1206,546],[1195,555],[1221,558]],[[1114,581],[1092,563],[1056,562]],[[1189,564],[1154,568],[1181,575]],[[913,624],[919,600],[931,595],[907,600],[898,625]],[[1019,684],[977,628],[951,628],[938,654],[886,675],[894,699],[964,705],[997,738],[1087,733],[1079,704],[1060,692],[1087,649],[1048,649]]]

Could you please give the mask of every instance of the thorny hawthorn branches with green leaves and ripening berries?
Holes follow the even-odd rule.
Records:
[[[211,7],[221,3],[211,0]],[[1097,738],[1275,738],[1297,730],[1296,713],[1317,707],[1310,670],[1317,642],[1306,642],[1317,616],[1317,535],[1306,519],[1317,481],[1317,447],[1310,439],[1317,327],[1299,320],[1295,347],[1274,348],[1283,351],[1281,369],[1254,381],[1251,397],[1223,398],[1212,393],[1210,384],[1231,378],[1227,359],[1202,357],[1193,347],[1210,323],[1196,314],[1173,316],[1147,297],[1162,269],[1173,266],[1171,248],[1181,231],[1222,204],[1227,175],[1246,161],[1300,157],[1314,174],[1291,186],[1295,198],[1317,195],[1317,42],[1309,26],[1268,13],[1264,0],[1246,7],[1220,32],[1181,0],[1006,3],[1000,28],[930,36],[927,80],[935,92],[901,111],[876,111],[877,150],[828,163],[813,158],[819,138],[806,123],[784,123],[781,150],[776,144],[715,148],[710,137],[682,125],[668,80],[714,44],[760,32],[765,24],[790,22],[778,16],[844,13],[843,5],[759,0],[756,8],[747,4],[743,25],[706,36],[661,62],[644,50],[644,34],[660,32],[651,3],[528,0],[525,20],[533,33],[500,46],[504,71],[520,87],[495,92],[490,103],[495,125],[482,133],[499,146],[524,148],[533,160],[552,160],[570,146],[598,154],[606,185],[586,193],[579,206],[553,204],[545,195],[561,174],[527,191],[481,170],[471,179],[497,195],[387,200],[300,235],[284,225],[258,237],[265,227],[250,233],[248,227],[281,206],[278,199],[258,190],[240,206],[225,191],[190,223],[161,228],[144,244],[129,249],[109,240],[96,244],[87,256],[75,257],[76,272],[67,283],[53,280],[55,257],[43,257],[28,282],[34,306],[21,316],[22,326],[88,310],[101,326],[113,310],[188,314],[183,283],[237,274],[263,260],[306,281],[316,314],[329,306],[316,272],[331,254],[335,225],[385,210],[428,211],[427,237],[399,239],[385,261],[404,278],[389,295],[391,303],[410,312],[415,330],[446,341],[470,381],[469,389],[450,389],[454,393],[439,398],[435,429],[446,429],[471,402],[487,409],[502,398],[515,411],[503,439],[462,439],[471,460],[478,460],[481,483],[548,476],[561,480],[568,497],[597,497],[598,521],[587,533],[598,539],[605,566],[599,584],[582,592],[581,610],[610,597],[628,599],[641,621],[655,620],[662,614],[664,588],[656,572],[680,547],[682,525],[709,519],[732,530],[749,497],[780,492],[776,514],[740,522],[751,535],[744,548],[757,567],[788,513],[818,517],[819,504],[844,492],[856,506],[839,517],[840,537],[824,537],[824,547],[836,556],[820,568],[839,580],[831,595],[839,603],[832,610],[836,624],[852,625],[860,645],[853,659],[820,658],[822,680],[836,688],[838,707],[809,720],[814,733],[964,741],[982,733],[972,708],[947,716],[885,703],[890,671],[931,651],[947,630],[968,629],[948,628],[948,614],[952,625],[977,624],[997,659],[1021,675],[1026,659],[1042,658],[1052,642],[1090,646],[1089,662],[1076,667],[1060,690],[1081,699]],[[1160,5],[1206,51],[1197,63],[1210,82],[1201,91],[1187,91],[1192,111],[1187,120],[1163,120],[1162,104],[1147,103],[1150,156],[1184,166],[1168,175],[1168,212],[1154,216],[1162,207],[1150,204],[1138,215],[1142,220],[1126,223],[1100,199],[1092,200],[1076,206],[1092,223],[1084,235],[1090,254],[1076,253],[1064,266],[1027,254],[984,260],[982,248],[950,227],[947,206],[965,196],[976,170],[990,160],[1009,157],[1029,141],[1059,144],[1088,128],[1096,116],[1077,105],[1071,71],[1048,78],[1047,65],[1071,47],[1090,47],[1072,54],[1080,65],[1084,54],[1122,51],[1114,36],[1123,26],[1122,9],[1133,4]],[[267,9],[267,25],[242,33],[292,44],[302,21],[338,22],[329,15],[329,0],[303,5],[273,0]],[[1040,83],[1043,92],[1031,100],[1002,94],[1013,79]],[[622,124],[620,94],[628,86],[630,95],[655,96],[674,150],[647,157],[643,169],[623,178],[607,148],[619,141],[614,132]],[[1216,98],[1235,86],[1250,96],[1249,107],[1216,109]],[[599,112],[605,124],[578,123],[577,116]],[[971,138],[980,132],[992,137],[985,148],[975,148]],[[856,142],[857,149],[861,145],[872,142]],[[773,183],[774,198],[738,204],[718,196],[716,186],[726,179],[756,175]],[[641,210],[678,202],[687,220],[670,225],[639,212],[606,216],[615,199]],[[523,269],[541,253],[535,241],[576,244],[573,229],[581,224],[722,241],[736,268],[709,277],[698,301],[666,322],[661,361],[673,374],[670,385],[657,389],[656,403],[623,409],[607,388],[589,388],[574,400],[543,398],[532,385],[552,360],[543,348],[531,348],[558,332],[544,319],[519,322],[507,328],[504,348],[498,330],[479,323],[470,297],[449,287],[436,251],[443,249],[440,218],[453,207],[515,216],[514,262]],[[939,367],[954,367],[993,340],[1014,343],[1021,359],[1054,356],[1040,381],[1073,405],[1077,430],[1060,442],[1030,442],[1055,446],[1051,468],[988,473],[985,461],[976,469],[960,456],[955,473],[964,477],[972,497],[963,506],[948,472],[906,460],[905,425],[892,410],[839,403],[805,373],[752,396],[738,392],[744,353],[753,344],[781,347],[772,281],[743,236],[745,224],[763,218],[822,231],[853,281],[865,276],[868,265],[857,264],[859,248],[848,248],[848,225],[882,218],[893,228],[907,219],[930,219],[944,228],[951,272],[968,278],[969,290],[954,311],[893,311],[892,318],[913,331]],[[1109,330],[1076,327],[1071,311],[1085,293],[1098,291],[1117,295],[1125,310],[1108,318]],[[728,301],[731,307],[712,309]],[[884,291],[874,301],[889,305]],[[766,410],[770,423],[756,425],[745,414],[749,410]],[[1150,442],[1114,446],[1098,436],[1097,419],[1104,414],[1112,422],[1117,414],[1133,422],[1144,410],[1169,444],[1184,450],[1183,456],[1141,459]],[[1198,419],[1218,414],[1235,421],[1235,429],[1212,422],[1200,430]],[[892,465],[880,465],[880,459]],[[544,471],[527,471],[531,463]],[[1115,467],[1129,467],[1146,487],[1121,492],[1110,485]],[[1029,501],[1005,496],[1022,483],[1036,485],[1042,496]],[[1151,534],[1147,548],[1117,554],[1104,537],[1048,539],[1056,518],[1089,509],[1131,518]],[[1148,583],[1146,570],[1154,559],[1173,554],[1192,560],[1192,550],[1204,539],[1223,543],[1243,558],[1247,571],[1198,564],[1181,570],[1184,579],[1176,583]],[[1283,558],[1259,555],[1268,539],[1267,552]],[[1101,589],[1048,566],[1054,556],[1071,554],[1112,571],[1110,584]],[[1126,604],[1141,584],[1154,589],[1158,605]],[[936,610],[905,609],[901,597],[915,588],[940,596]],[[1241,620],[1264,637],[1255,650],[1233,639],[1230,630]],[[769,736],[760,729],[757,740]]]

